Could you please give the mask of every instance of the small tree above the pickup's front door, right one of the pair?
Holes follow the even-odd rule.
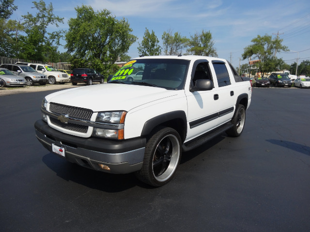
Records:
[[[202,30],[201,33],[195,33],[193,36],[190,36],[187,46],[186,51],[188,55],[217,57],[210,30]]]

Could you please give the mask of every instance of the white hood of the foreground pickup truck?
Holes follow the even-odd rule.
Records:
[[[177,90],[159,87],[125,84],[98,84],[55,92],[46,96],[47,102],[55,102],[98,111],[129,111],[140,105],[168,100],[178,95]]]

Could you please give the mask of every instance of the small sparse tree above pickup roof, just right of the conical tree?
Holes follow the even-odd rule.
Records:
[[[185,36],[182,37],[179,32],[172,35],[172,30],[164,31],[161,39],[163,40],[164,54],[165,55],[179,55],[186,48],[189,41]]]

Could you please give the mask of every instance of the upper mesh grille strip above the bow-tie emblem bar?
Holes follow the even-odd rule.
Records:
[[[50,103],[49,111],[59,115],[68,114],[69,117],[74,117],[83,120],[91,120],[91,117],[93,115],[93,111],[89,109],[82,109],[56,103]]]

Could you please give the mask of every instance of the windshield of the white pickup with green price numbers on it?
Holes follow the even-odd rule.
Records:
[[[113,75],[109,83],[182,89],[188,65],[189,60],[184,59],[131,60]]]

